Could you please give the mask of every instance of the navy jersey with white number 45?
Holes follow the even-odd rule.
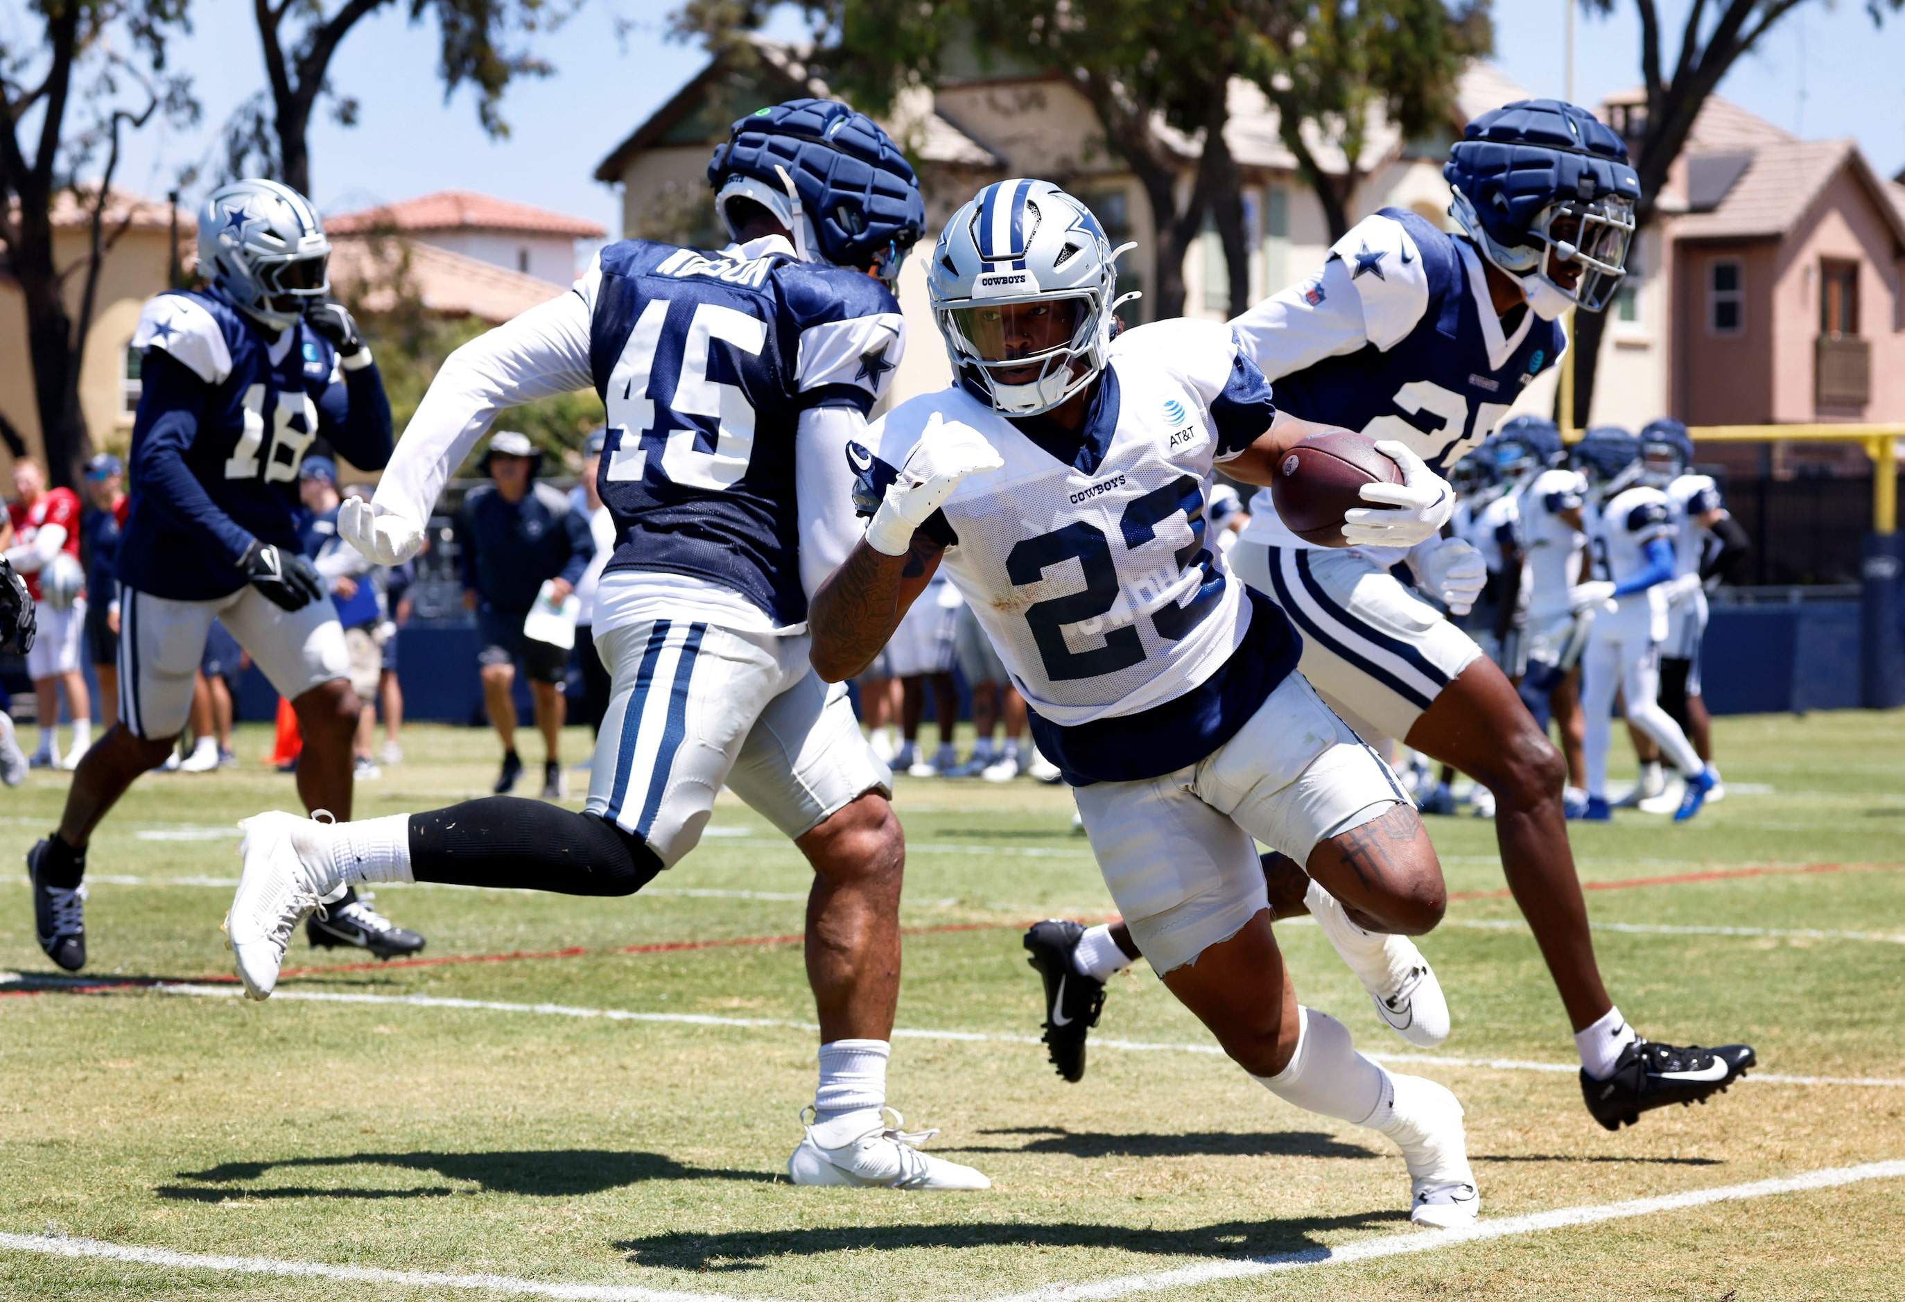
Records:
[[[865,416],[899,364],[899,303],[783,240],[705,254],[623,240],[577,292],[608,408],[598,488],[608,572],[718,583],[777,625],[806,620],[794,433],[810,408]]]

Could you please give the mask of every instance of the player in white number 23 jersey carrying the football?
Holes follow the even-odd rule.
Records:
[[[813,665],[859,673],[947,574],[1172,993],[1280,1098],[1396,1140],[1412,1220],[1469,1224],[1461,1106],[1297,1005],[1252,844],[1309,869],[1332,938],[1366,944],[1351,919],[1440,921],[1442,871],[1394,774],[1295,671],[1290,621],[1210,545],[1212,467],[1265,484],[1314,427],[1271,431],[1269,383],[1221,324],[1113,341],[1113,259],[1092,212],[1046,181],[991,185],[947,221],[928,292],[958,381],[850,450],[872,519],[813,595]],[[1419,539],[1446,484],[1398,459],[1412,492],[1372,522]]]

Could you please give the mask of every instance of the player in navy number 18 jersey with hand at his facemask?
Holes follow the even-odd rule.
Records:
[[[303,194],[234,181],[198,214],[208,286],[160,294],[139,313],[139,492],[116,568],[118,724],[80,763],[59,829],[27,852],[40,947],[69,972],[86,963],[86,843],[185,728],[213,620],[297,709],[305,808],[351,818],[358,700],[337,614],[297,543],[297,467],[318,437],[354,465],[381,467],[391,404],[351,313],[330,299],[330,252]],[[337,917],[370,913],[351,892],[330,904]],[[368,926],[362,944],[377,953],[385,928]]]

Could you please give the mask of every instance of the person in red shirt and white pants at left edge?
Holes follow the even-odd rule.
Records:
[[[40,635],[27,652],[27,675],[32,679],[40,717],[40,749],[32,757],[32,766],[72,768],[93,740],[91,698],[80,675],[86,597],[67,599],[84,587],[84,580],[70,583],[67,580],[67,574],[82,574],[80,498],[70,488],[48,488],[46,471],[30,458],[13,459],[13,492],[17,499],[6,507],[13,522],[13,545],[6,559],[27,580],[27,593],[32,597],[40,625]],[[53,570],[63,570],[57,583]],[[72,715],[72,745],[67,747],[65,764],[53,738],[61,688],[67,692],[67,713]]]

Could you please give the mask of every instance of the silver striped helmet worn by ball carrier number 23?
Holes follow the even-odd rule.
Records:
[[[1050,181],[985,187],[939,233],[926,292],[952,374],[1004,416],[1038,416],[1105,370],[1116,297],[1116,259],[1105,229]],[[1128,295],[1128,297],[1137,297]],[[1006,309],[1046,305],[1071,313],[1057,343],[1027,343]],[[1008,379],[1010,377],[1010,379]]]

